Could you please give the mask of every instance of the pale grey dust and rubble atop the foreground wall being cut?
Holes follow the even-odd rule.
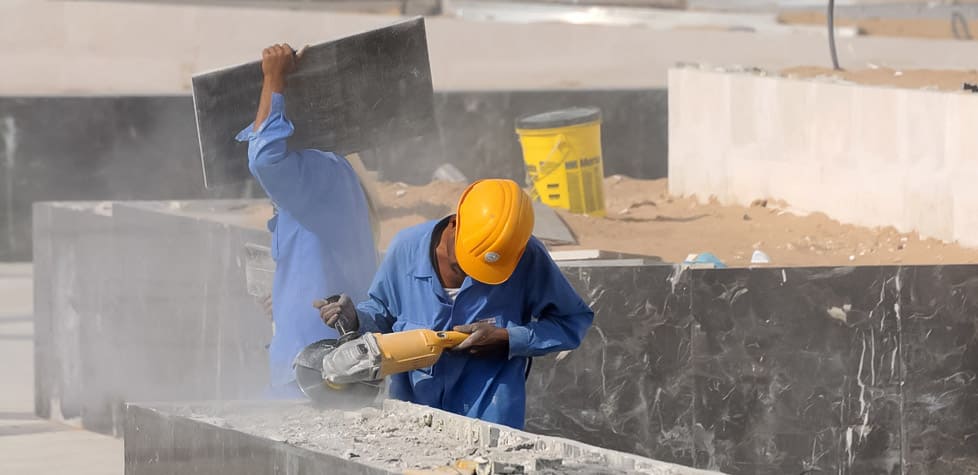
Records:
[[[536,470],[544,453],[528,443],[480,449],[446,433],[430,413],[400,414],[367,407],[342,411],[312,406],[287,410],[261,407],[188,408],[185,416],[226,429],[285,442],[289,445],[356,460],[387,470],[433,469],[459,459],[485,457],[494,463],[523,466],[528,473],[625,474],[598,460],[561,459],[560,469]],[[598,470],[600,469],[600,470]]]

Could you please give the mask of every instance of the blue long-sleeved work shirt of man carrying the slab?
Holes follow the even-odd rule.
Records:
[[[368,205],[349,162],[319,150],[289,150],[294,128],[285,117],[285,97],[272,95],[268,118],[257,131],[238,134],[248,141],[248,167],[277,213],[272,232],[275,281],[269,346],[271,385],[295,380],[292,362],[308,344],[336,338],[313,308],[316,299],[348,294],[366,297],[377,268]]]

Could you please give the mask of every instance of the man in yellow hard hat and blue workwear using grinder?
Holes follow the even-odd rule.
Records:
[[[368,299],[320,316],[370,332],[470,333],[433,367],[392,375],[390,396],[523,428],[530,358],[576,348],[594,318],[532,230],[515,182],[473,183],[454,215],[394,238]]]

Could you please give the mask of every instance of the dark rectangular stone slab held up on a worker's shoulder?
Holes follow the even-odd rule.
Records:
[[[235,141],[252,122],[262,85],[260,61],[193,77],[194,109],[210,187],[249,177],[247,142]],[[286,89],[290,146],[359,152],[434,130],[431,67],[424,20],[310,46]]]

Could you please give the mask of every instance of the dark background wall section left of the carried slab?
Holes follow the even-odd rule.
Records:
[[[189,96],[0,97],[0,111],[0,262],[31,260],[35,202],[264,196],[204,190]]]

